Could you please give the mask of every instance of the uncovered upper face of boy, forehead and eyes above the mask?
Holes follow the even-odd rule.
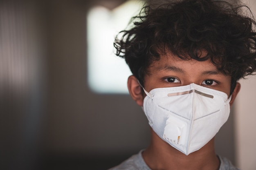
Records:
[[[182,60],[168,53],[160,60],[154,61],[144,77],[144,88],[185,86],[191,83],[213,88],[230,95],[231,77],[224,75],[210,60]]]

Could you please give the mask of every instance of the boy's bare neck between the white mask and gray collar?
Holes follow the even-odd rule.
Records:
[[[152,129],[151,134],[151,144],[142,156],[152,170],[218,170],[220,161],[214,150],[214,139],[186,156],[163,141]]]

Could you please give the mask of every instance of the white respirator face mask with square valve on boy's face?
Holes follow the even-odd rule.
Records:
[[[150,126],[185,155],[207,144],[229,117],[231,96],[194,83],[145,93],[143,109]]]

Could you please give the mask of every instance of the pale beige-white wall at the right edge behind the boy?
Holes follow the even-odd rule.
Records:
[[[256,14],[256,1],[243,0]],[[256,169],[256,76],[241,79],[235,104],[236,165],[243,170]]]

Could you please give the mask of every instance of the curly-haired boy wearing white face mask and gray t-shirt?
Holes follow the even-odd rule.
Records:
[[[128,89],[143,107],[151,143],[112,170],[238,170],[216,155],[238,79],[256,70],[254,20],[246,7],[180,0],[145,6],[115,41],[132,71]]]

